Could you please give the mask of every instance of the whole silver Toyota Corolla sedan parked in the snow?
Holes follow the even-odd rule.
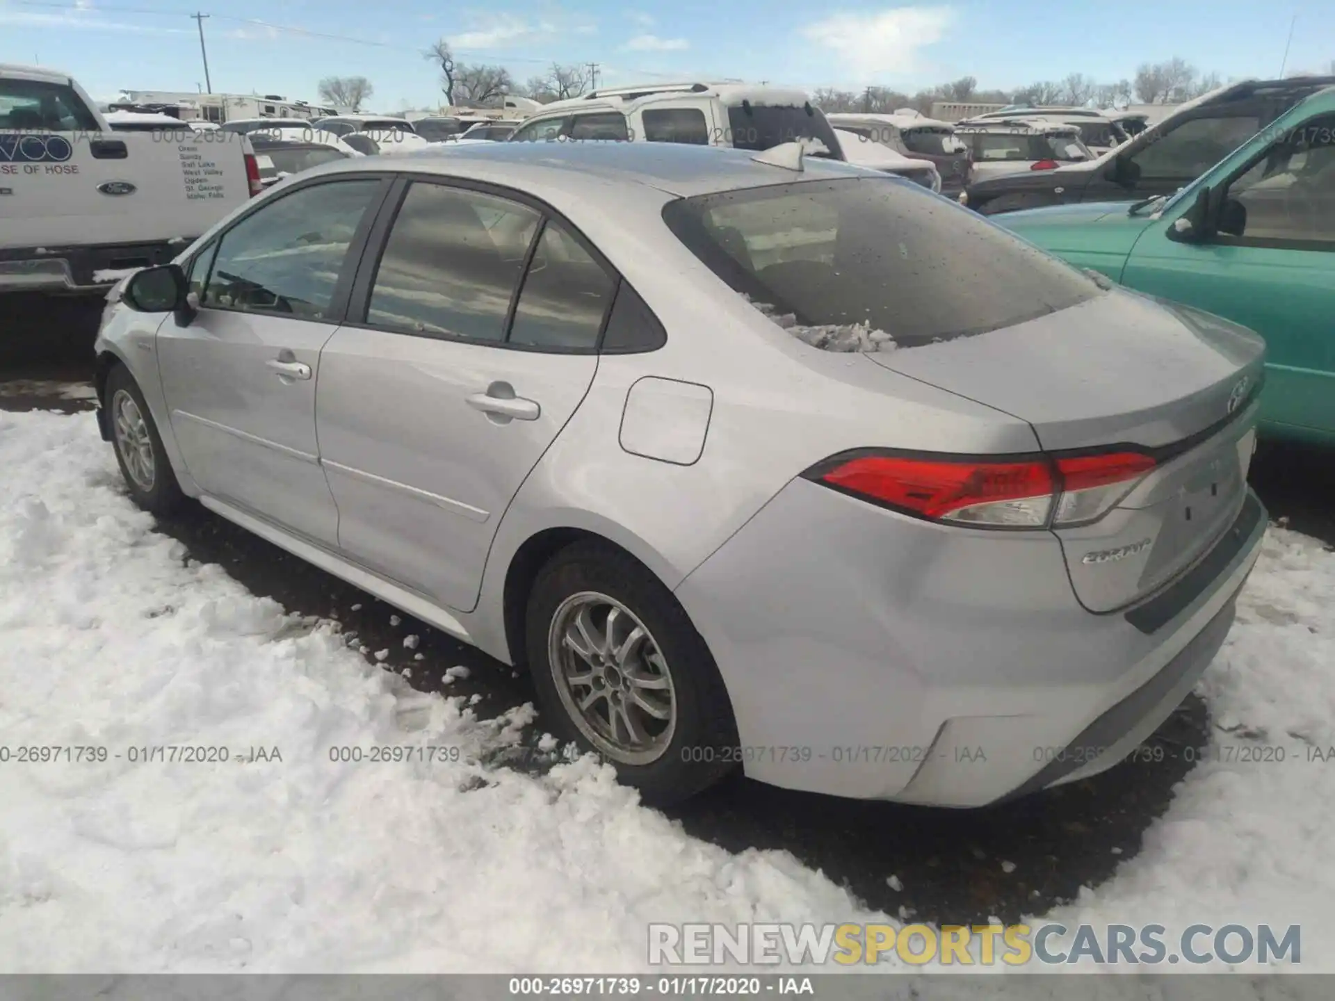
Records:
[[[286,180],[121,283],[103,436],[148,511],[199,498],[525,666],[655,802],[1112,766],[1256,559],[1262,342],[788,153]]]

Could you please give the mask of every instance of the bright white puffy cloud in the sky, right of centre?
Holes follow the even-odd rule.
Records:
[[[802,33],[838,53],[850,76],[878,77],[912,72],[918,49],[940,41],[953,20],[949,7],[896,7],[830,15]]]

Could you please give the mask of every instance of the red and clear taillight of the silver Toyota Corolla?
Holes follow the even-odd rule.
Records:
[[[930,521],[1043,529],[1101,518],[1153,466],[1139,452],[1004,460],[862,452],[834,456],[805,475]]]

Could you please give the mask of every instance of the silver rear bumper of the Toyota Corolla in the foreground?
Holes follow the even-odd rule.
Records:
[[[930,525],[794,480],[677,589],[746,774],[983,806],[1103,771],[1181,703],[1256,561],[1250,491],[1197,570],[1092,614],[1045,533]]]

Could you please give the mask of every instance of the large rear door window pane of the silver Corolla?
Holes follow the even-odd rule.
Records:
[[[527,206],[414,184],[371,287],[366,322],[411,334],[505,339],[505,320],[541,216]]]

